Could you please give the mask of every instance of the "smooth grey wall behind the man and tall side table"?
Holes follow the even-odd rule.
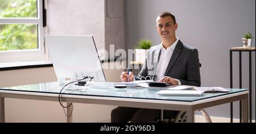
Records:
[[[255,37],[254,0],[126,0],[126,49],[133,49],[141,38],[159,44],[155,19],[162,11],[176,16],[176,36],[183,43],[199,50],[201,86],[229,88],[229,49],[242,46],[243,33],[250,31]],[[255,47],[255,38],[253,39]],[[255,53],[253,56],[253,119],[255,119]],[[239,87],[238,54],[233,55],[234,87]],[[242,54],[242,85],[249,88],[249,58]],[[238,103],[234,105],[234,118],[238,118]],[[229,104],[210,107],[212,116],[229,117]]]

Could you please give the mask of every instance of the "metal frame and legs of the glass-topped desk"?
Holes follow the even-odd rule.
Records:
[[[139,98],[122,97],[102,97],[102,96],[79,96],[64,94],[64,102],[69,103],[91,103],[101,105],[117,105],[126,107],[140,107],[146,109],[164,109],[187,111],[187,122],[195,122],[195,110],[217,106],[234,101],[242,101],[242,122],[248,122],[248,90],[238,93],[226,94],[199,101],[166,101],[150,100]],[[5,122],[5,98],[19,98],[27,100],[58,101],[56,93],[26,92],[0,89],[0,122]],[[71,107],[67,110],[67,115],[71,114]],[[72,115],[67,117],[67,122],[72,122]]]

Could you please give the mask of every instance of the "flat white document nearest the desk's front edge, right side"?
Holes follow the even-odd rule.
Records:
[[[160,90],[155,94],[165,96],[201,96],[203,93],[203,90]]]

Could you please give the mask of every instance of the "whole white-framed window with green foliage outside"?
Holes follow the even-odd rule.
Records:
[[[43,0],[0,0],[0,63],[44,59]]]

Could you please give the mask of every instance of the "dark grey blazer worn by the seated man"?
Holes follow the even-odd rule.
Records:
[[[161,44],[150,48],[146,61],[142,66],[141,72],[135,76],[135,80],[140,80],[142,76],[150,76],[154,80],[156,77],[156,68],[161,53]],[[174,49],[174,53],[168,63],[164,76],[170,76],[179,79],[181,85],[193,85],[200,87],[200,64],[197,49],[183,44],[180,40]]]

